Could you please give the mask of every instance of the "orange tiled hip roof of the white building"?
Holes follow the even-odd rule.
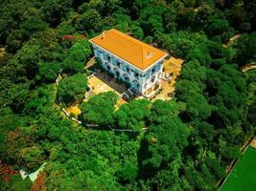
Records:
[[[114,29],[103,32],[90,41],[141,70],[168,54]]]

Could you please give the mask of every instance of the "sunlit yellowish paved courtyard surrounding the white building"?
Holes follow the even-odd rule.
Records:
[[[155,96],[151,97],[152,101],[155,99],[170,100],[175,95],[175,82],[178,80],[183,62],[184,60],[175,58],[173,56],[164,61],[163,72],[165,72],[165,74],[170,74],[172,79],[170,81],[161,80],[161,89],[158,93],[156,93]],[[91,58],[85,64],[84,69],[88,69],[90,71],[94,70],[95,63],[95,58]],[[90,97],[100,93],[112,91],[120,96],[120,99],[115,105],[116,109],[127,103],[127,100],[121,96],[123,93],[128,92],[128,87],[126,84],[118,82],[116,78],[105,71],[97,72],[96,74],[91,75],[88,78],[88,85],[91,87],[91,92],[82,101],[87,101]],[[144,98],[144,96],[137,96],[133,98],[141,99]],[[81,114],[81,110],[78,107],[79,104],[80,103],[74,103],[72,106],[66,108],[66,111],[69,114],[79,116]]]

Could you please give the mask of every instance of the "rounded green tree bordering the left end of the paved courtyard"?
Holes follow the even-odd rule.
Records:
[[[74,74],[61,79],[58,84],[58,98],[67,105],[84,97],[87,78],[84,74]]]

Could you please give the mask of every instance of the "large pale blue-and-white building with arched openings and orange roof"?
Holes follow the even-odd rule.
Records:
[[[90,39],[103,68],[150,97],[160,88],[164,53],[123,32],[110,30]]]

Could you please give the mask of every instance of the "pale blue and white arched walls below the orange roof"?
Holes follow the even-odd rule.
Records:
[[[108,53],[101,47],[93,44],[96,57],[100,58],[106,71],[128,82],[130,86],[145,92],[158,80],[163,69],[163,59],[152,65],[147,71],[141,71],[113,53]]]

